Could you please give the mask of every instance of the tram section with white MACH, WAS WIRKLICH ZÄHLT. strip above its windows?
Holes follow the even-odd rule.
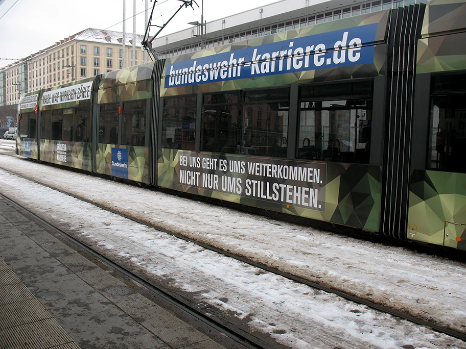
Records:
[[[40,97],[40,160],[92,171],[92,85],[95,77],[53,87]]]

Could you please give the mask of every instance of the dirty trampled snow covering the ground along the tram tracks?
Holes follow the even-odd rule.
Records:
[[[316,231],[264,217],[57,169],[3,154],[0,168],[145,219],[165,229],[394,309],[464,328],[463,263]],[[101,250],[153,277],[194,292],[271,333],[305,347],[464,347],[465,343],[299,285],[141,227],[0,170],[0,192],[51,216]],[[344,338],[344,339],[343,339]],[[318,343],[318,344],[317,344]]]

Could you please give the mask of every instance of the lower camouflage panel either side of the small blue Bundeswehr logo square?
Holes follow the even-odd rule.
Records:
[[[149,184],[149,148],[99,143],[97,173],[118,177],[112,172],[112,148],[128,149],[128,180]]]

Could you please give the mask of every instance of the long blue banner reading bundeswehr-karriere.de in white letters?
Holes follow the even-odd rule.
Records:
[[[377,23],[169,64],[165,88],[374,62]]]

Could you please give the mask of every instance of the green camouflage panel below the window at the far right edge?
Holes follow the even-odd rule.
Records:
[[[466,173],[415,170],[408,238],[466,251]]]

